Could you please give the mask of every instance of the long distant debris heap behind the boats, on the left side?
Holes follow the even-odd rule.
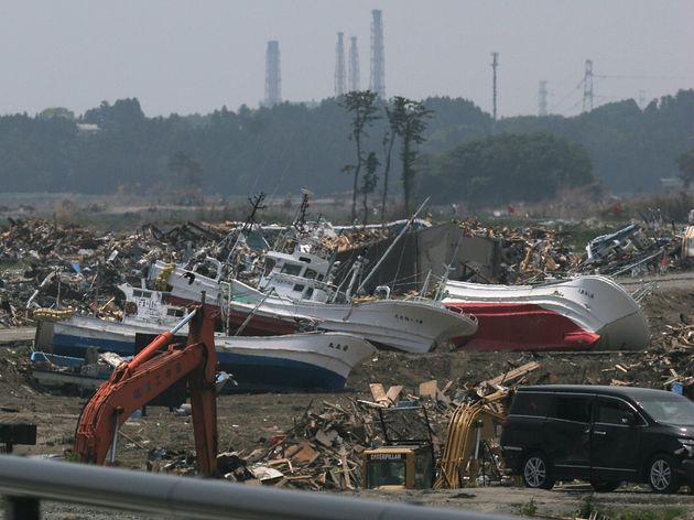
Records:
[[[91,229],[44,219],[8,219],[0,232],[0,326],[32,323],[35,308],[72,308],[94,313],[113,297],[124,281],[140,284],[155,260],[189,267],[217,258],[241,281],[261,270],[267,240],[237,240],[243,223],[186,223],[164,231],[154,225],[134,232],[98,235]],[[260,229],[260,228],[258,228]],[[285,228],[270,227],[268,238]],[[379,239],[387,231],[351,229],[322,236],[323,247],[350,248]],[[264,230],[262,231],[264,234]],[[231,256],[231,251],[234,254]]]

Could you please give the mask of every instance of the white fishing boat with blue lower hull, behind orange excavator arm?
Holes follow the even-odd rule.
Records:
[[[151,338],[163,327],[172,327],[185,308],[174,305],[167,293],[122,284],[126,308],[132,314],[121,321],[93,316],[68,319],[40,319],[35,345],[40,350],[84,357],[87,349],[135,353],[138,335]],[[154,313],[153,310],[159,312]],[[185,340],[185,328],[181,329]],[[225,391],[337,391],[345,387],[351,370],[376,353],[362,337],[341,333],[304,333],[285,336],[228,336],[216,334],[219,370],[234,376],[237,386]]]

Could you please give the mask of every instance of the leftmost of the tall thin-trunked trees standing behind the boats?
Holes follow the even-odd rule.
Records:
[[[353,173],[354,186],[351,196],[351,220],[357,218],[357,193],[359,188],[359,173],[365,162],[362,148],[362,139],[368,137],[368,131],[373,121],[380,119],[377,115],[378,107],[376,100],[378,95],[370,90],[353,90],[347,93],[340,106],[351,113],[351,132],[349,139],[355,142],[357,149],[356,164],[346,165],[343,171]]]

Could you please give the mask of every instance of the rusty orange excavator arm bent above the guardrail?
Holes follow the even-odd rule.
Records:
[[[203,307],[171,332],[160,334],[129,362],[121,364],[101,384],[79,418],[74,452],[84,463],[104,464],[118,429],[175,382],[186,379],[191,396],[195,448],[202,475],[217,473],[217,355],[214,319]],[[189,319],[185,346],[172,345],[174,334]],[[158,350],[169,347],[165,353]]]

